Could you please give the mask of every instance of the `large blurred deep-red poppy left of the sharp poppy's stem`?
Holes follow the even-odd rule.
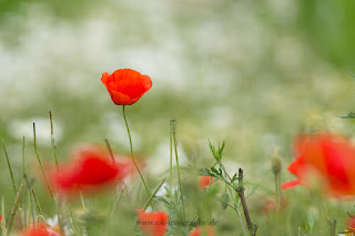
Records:
[[[53,174],[53,182],[60,192],[97,192],[122,181],[133,171],[130,161],[112,161],[106,152],[94,146],[80,148],[67,165],[61,165]]]

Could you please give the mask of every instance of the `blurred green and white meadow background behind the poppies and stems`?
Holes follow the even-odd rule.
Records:
[[[192,170],[214,163],[209,140],[225,140],[227,171],[242,167],[247,189],[257,186],[247,198],[251,217],[260,225],[257,235],[327,235],[327,216],[343,230],[346,213],[355,212],[352,202],[322,202],[298,187],[285,192],[287,223],[278,225],[260,213],[258,205],[264,196],[274,197],[275,148],[285,182],[293,178],[286,167],[300,132],[329,130],[355,137],[354,122],[339,119],[355,111],[355,78],[349,73],[355,72],[354,12],[352,0],[0,0],[0,140],[17,185],[24,136],[28,175],[36,179],[44,217],[55,215],[41,182],[32,133],[34,122],[39,154],[52,163],[49,111],[60,162],[75,145],[104,146],[104,138],[114,152],[130,154],[122,111],[100,78],[131,68],[153,81],[152,89],[126,107],[133,150],[145,164],[151,191],[169,176],[169,122],[174,119],[191,212],[210,204],[193,191],[197,177]],[[144,205],[139,178],[130,189],[134,207]],[[222,193],[223,185],[219,189]],[[9,211],[14,194],[2,148],[0,196]],[[100,220],[111,198],[103,194],[87,199],[97,214],[73,201],[75,217]],[[326,214],[317,202],[327,206]],[[132,234],[126,225],[132,225],[136,208],[120,207],[114,220],[89,235]],[[211,207],[220,222],[215,235],[242,234],[234,212],[219,203]]]

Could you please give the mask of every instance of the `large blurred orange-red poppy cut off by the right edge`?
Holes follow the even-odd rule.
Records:
[[[301,135],[295,151],[298,157],[288,171],[297,179],[284,183],[283,189],[300,184],[308,186],[313,174],[332,196],[355,195],[355,146],[349,140],[329,133]]]

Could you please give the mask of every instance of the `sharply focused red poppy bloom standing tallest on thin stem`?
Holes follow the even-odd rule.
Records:
[[[101,82],[116,105],[132,105],[152,88],[151,78],[131,69],[104,72]]]

